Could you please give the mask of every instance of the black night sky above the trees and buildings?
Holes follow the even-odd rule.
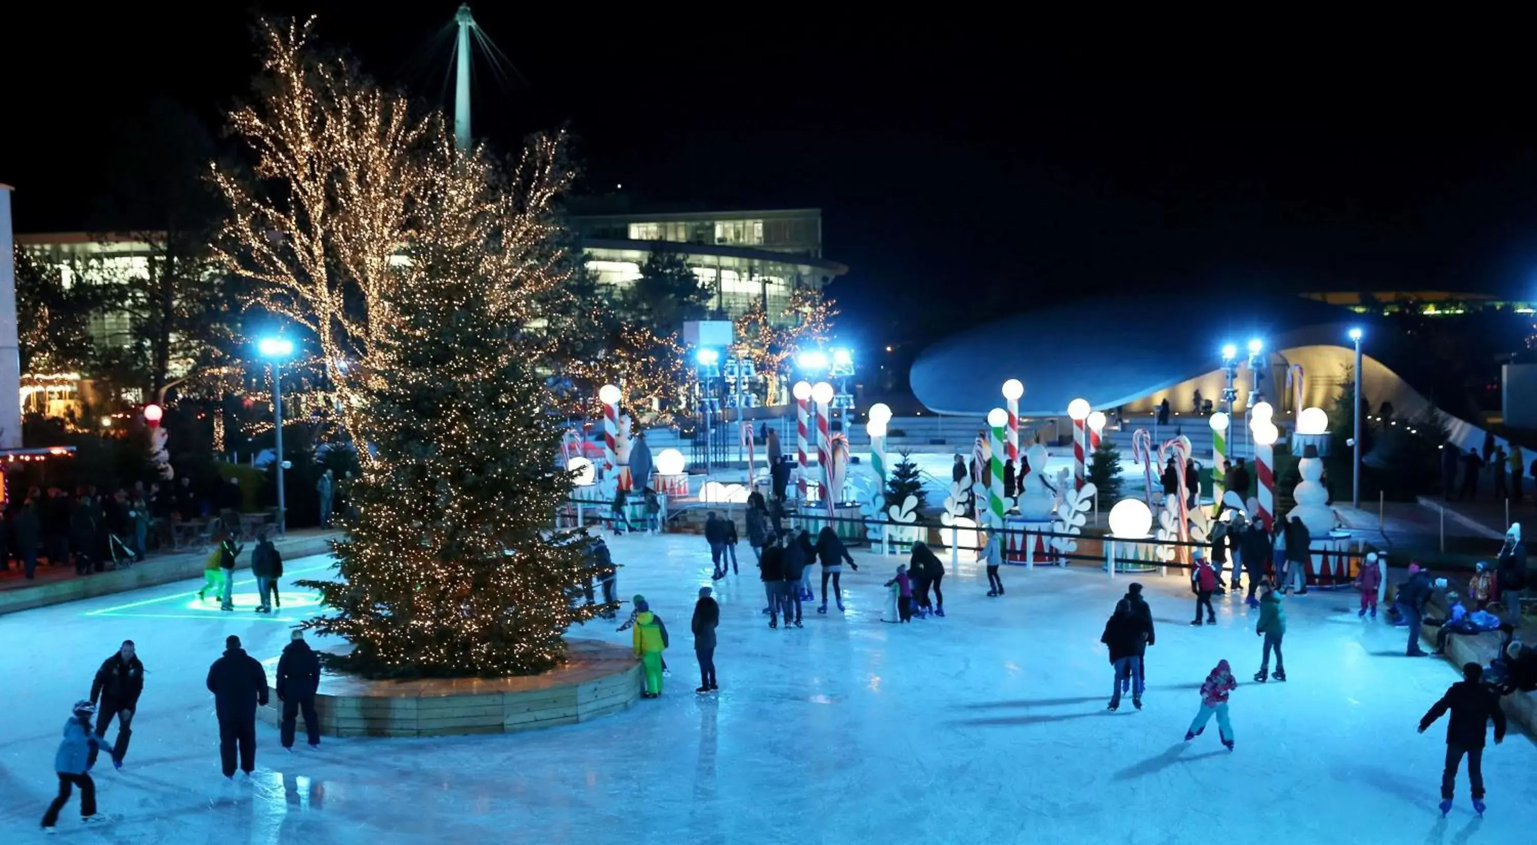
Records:
[[[369,72],[441,97],[455,5],[390,6],[260,9],[315,11]],[[590,189],[822,207],[825,252],[851,267],[833,290],[850,340],[922,341],[1031,301],[1160,284],[1531,295],[1537,108],[1514,22],[1217,37],[481,6],[523,80],[478,68],[478,135],[509,149],[569,120]],[[195,9],[20,22],[68,46],[63,61],[25,40],[0,58],[0,181],[18,187],[20,230],[81,226],[105,152],[151,97],[217,128],[255,69],[257,12]]]

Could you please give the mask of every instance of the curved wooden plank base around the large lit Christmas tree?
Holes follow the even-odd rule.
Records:
[[[532,678],[367,681],[327,673],[315,694],[320,733],[386,737],[515,733],[587,722],[639,701],[641,664],[630,648],[592,639],[567,642],[570,661]],[[267,667],[267,684],[274,687],[275,670]],[[278,724],[281,708],[272,696],[261,708],[261,719]]]

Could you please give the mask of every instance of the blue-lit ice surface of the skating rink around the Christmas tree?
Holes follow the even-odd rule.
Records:
[[[246,785],[220,776],[203,678],[229,633],[275,658],[289,619],[200,608],[192,582],[0,616],[0,842],[38,837],[58,730],[124,638],[148,667],[134,745],[123,771],[95,771],[114,819],[80,830],[71,804],[69,842],[1529,839],[1537,753],[1522,734],[1486,751],[1488,817],[1469,811],[1463,777],[1452,816],[1439,819],[1445,722],[1425,736],[1414,727],[1456,673],[1403,658],[1403,628],[1359,621],[1345,595],[1290,601],[1291,681],[1257,685],[1260,641],[1242,604],[1219,598],[1217,627],[1190,628],[1180,581],[1144,578],[1159,625],[1147,708],[1107,713],[1099,633],[1124,576],[1010,567],[1008,595],[988,599],[985,578],[962,565],[945,576],[945,619],[890,625],[878,618],[895,559],[856,553],[847,613],[810,605],[805,628],[768,630],[742,545],[741,576],[718,585],[721,693],[704,698],[689,636],[695,592],[709,584],[704,541],[627,536],[613,550],[622,596],[644,593],[673,636],[661,699],[546,731],[326,739],[295,754],[258,725]],[[300,610],[290,593],[284,611]],[[629,636],[613,624],[576,635]],[[1234,753],[1214,724],[1180,741],[1219,658],[1240,681]]]

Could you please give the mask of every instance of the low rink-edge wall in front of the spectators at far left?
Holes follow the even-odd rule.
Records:
[[[340,539],[340,532],[297,533],[274,541],[284,561],[326,555],[330,552],[330,541]],[[249,553],[254,547],[246,544],[241,565],[237,572],[251,570]],[[143,587],[155,587],[189,578],[201,578],[203,565],[211,548],[200,552],[178,552],[174,555],[157,555],[134,564],[129,568],[98,572],[92,575],[69,576],[57,581],[45,581],[32,587],[14,587],[0,590],[0,616],[31,610],[34,607],[49,607],[114,593],[126,593]]]

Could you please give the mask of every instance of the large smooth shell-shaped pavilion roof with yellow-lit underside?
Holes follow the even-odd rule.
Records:
[[[1227,375],[1223,344],[1240,363],[1234,383],[1242,412],[1250,390],[1277,412],[1291,412],[1286,375],[1302,367],[1302,406],[1326,407],[1354,366],[1351,329],[1363,332],[1362,393],[1394,413],[1429,410],[1428,389],[1414,349],[1374,315],[1300,297],[1183,295],[1107,297],[1031,309],[985,323],[924,350],[911,386],[921,403],[942,413],[987,413],[1002,404],[1002,384],[1025,384],[1022,416],[1062,416],[1074,398],[1096,410],[1150,412],[1162,399],[1194,410],[1196,393],[1220,407]],[[1259,372],[1248,364],[1248,343],[1260,340]]]

